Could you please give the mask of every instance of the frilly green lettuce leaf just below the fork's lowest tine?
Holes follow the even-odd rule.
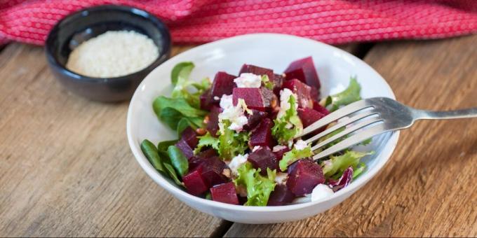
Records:
[[[323,174],[327,178],[340,178],[345,169],[353,167],[354,176],[363,172],[365,165],[360,163],[361,158],[365,155],[372,155],[374,152],[358,152],[358,151],[345,151],[343,155],[330,156],[330,160],[324,160],[321,162],[323,167]]]

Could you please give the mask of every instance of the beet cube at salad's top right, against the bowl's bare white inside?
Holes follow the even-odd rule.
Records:
[[[318,73],[316,73],[315,64],[311,57],[295,60],[291,62],[287,69],[285,69],[286,79],[291,80],[297,78],[303,83],[320,89],[320,80]]]

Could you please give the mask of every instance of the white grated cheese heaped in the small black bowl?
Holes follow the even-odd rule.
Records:
[[[145,69],[159,57],[151,38],[135,31],[106,31],[69,54],[67,69],[84,76],[113,78]]]

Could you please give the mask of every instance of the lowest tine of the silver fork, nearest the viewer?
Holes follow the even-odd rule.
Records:
[[[384,125],[384,123],[379,125],[374,125],[368,129],[365,129],[363,132],[354,134],[351,137],[344,139],[343,141],[340,141],[340,143],[335,144],[334,146],[331,146],[330,148],[327,148],[325,151],[321,151],[320,153],[317,153],[316,155],[313,156],[313,160],[318,160],[328,155],[332,155],[334,153],[344,150],[345,148],[354,146],[364,141],[365,139],[374,137],[377,134],[389,132],[390,130],[391,129],[387,128],[386,125]]]

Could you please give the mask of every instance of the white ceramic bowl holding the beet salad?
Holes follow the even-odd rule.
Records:
[[[361,96],[395,98],[389,85],[368,64],[357,57],[318,41],[283,34],[248,34],[215,41],[183,52],[158,66],[137,87],[128,111],[128,141],[142,169],[177,199],[190,207],[228,221],[238,223],[281,223],[314,216],[339,204],[367,183],[387,162],[398,142],[398,132],[375,137],[364,150],[376,153],[364,159],[367,169],[346,188],[331,197],[315,202],[280,207],[245,207],[205,200],[177,188],[163,178],[149,164],[140,150],[143,139],[154,143],[176,139],[175,132],[159,122],[152,110],[152,102],[159,95],[170,94],[170,71],[179,62],[192,61],[196,65],[192,78],[213,78],[217,71],[237,74],[242,64],[255,64],[282,72],[290,62],[312,56],[320,77],[321,94],[340,92],[347,87],[350,76],[357,76]],[[363,195],[365,196],[365,195]],[[154,208],[152,208],[154,209]]]

